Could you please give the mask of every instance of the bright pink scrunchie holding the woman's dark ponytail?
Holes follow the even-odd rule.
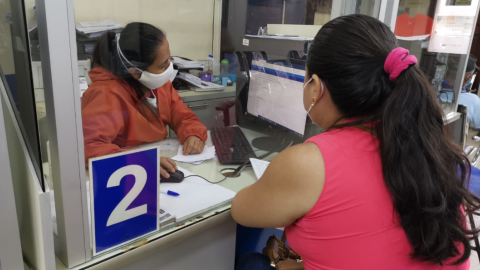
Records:
[[[405,48],[396,48],[385,60],[384,70],[390,74],[390,81],[395,81],[400,74],[410,67],[410,65],[416,65],[418,63],[415,55],[410,55],[410,51]]]

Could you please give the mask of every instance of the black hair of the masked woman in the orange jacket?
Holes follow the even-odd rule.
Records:
[[[157,57],[158,48],[165,40],[165,33],[148,23],[129,23],[120,33],[120,50],[128,62],[141,70],[147,70]],[[123,63],[122,63],[123,60]],[[102,66],[132,87],[139,100],[144,96],[141,83],[125,68],[131,65],[117,52],[116,34],[108,32],[97,41],[93,52],[92,67]],[[124,66],[125,65],[125,66]]]

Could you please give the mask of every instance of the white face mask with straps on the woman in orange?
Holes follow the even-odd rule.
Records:
[[[173,69],[173,63],[170,61],[170,65],[168,68],[160,74],[153,74],[148,71],[141,70],[134,66],[128,59],[123,55],[122,50],[120,50],[120,34],[117,34],[117,51],[118,55],[120,55],[120,60],[122,61],[123,66],[128,70],[127,66],[123,62],[127,62],[130,64],[132,67],[134,67],[136,70],[142,72],[142,75],[140,76],[140,79],[138,81],[145,85],[148,89],[157,89],[159,87],[164,86],[167,82],[173,82],[175,77],[177,76],[178,70]]]

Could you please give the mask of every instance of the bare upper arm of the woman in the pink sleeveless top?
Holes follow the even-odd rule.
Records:
[[[232,216],[244,226],[283,227],[305,216],[323,190],[322,153],[314,143],[304,143],[278,154],[263,176],[237,193]]]

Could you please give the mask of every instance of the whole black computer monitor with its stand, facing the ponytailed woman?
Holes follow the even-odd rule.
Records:
[[[253,58],[246,65],[251,66],[248,86],[237,95],[243,108],[242,119],[237,122],[244,128],[267,134],[268,137],[252,142],[255,148],[266,151],[275,150],[285,142],[302,142],[321,132],[319,128],[312,129],[314,125],[303,105],[305,61],[269,58],[279,60]]]

